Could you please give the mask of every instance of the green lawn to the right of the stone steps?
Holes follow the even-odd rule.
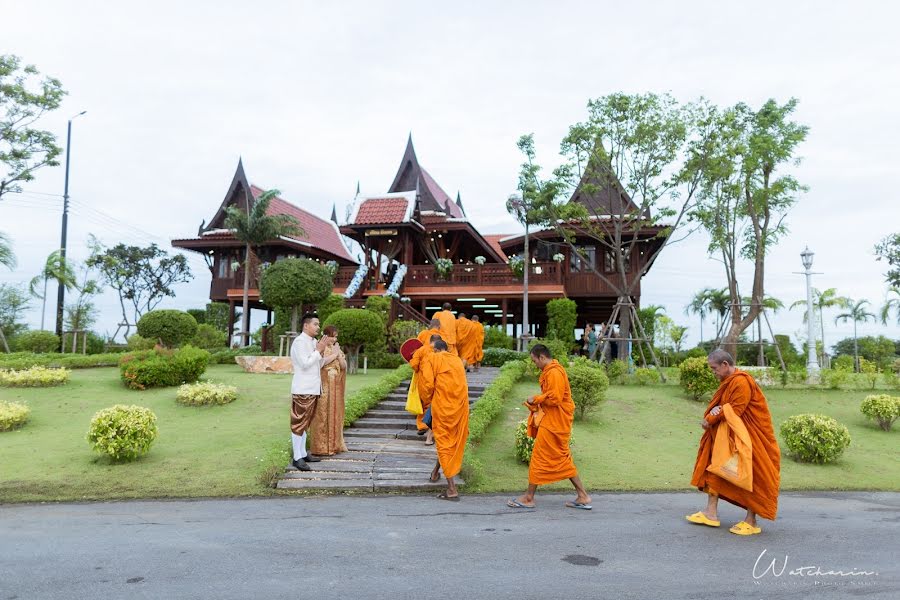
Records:
[[[533,379],[513,390],[504,415],[476,449],[485,477],[470,491],[511,492],[524,489],[528,467],[513,455],[515,424],[526,416],[521,402],[537,390]],[[775,420],[795,414],[823,413],[850,430],[852,442],[843,456],[828,465],[798,463],[784,456],[783,490],[900,490],[900,432],[884,432],[859,412],[867,391],[766,390]],[[690,488],[706,401],[686,399],[673,385],[612,386],[608,400],[594,417],[576,421],[575,464],[588,489],[683,490]],[[552,489],[571,489],[564,481]]]

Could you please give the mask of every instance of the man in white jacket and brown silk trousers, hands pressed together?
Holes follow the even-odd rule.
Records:
[[[301,321],[302,332],[291,344],[291,366],[294,377],[291,380],[291,446],[292,461],[300,471],[311,470],[308,463],[320,459],[306,452],[306,432],[316,413],[316,402],[322,395],[321,369],[338,358],[337,353],[323,358],[325,349],[334,343],[334,338],[319,333],[319,317],[306,313]]]

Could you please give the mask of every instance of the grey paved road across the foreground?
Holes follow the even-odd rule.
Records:
[[[719,530],[683,521],[699,494],[595,494],[592,512],[564,499],[0,506],[0,600],[900,598],[900,494],[786,494],[752,538],[724,528],[731,506]]]

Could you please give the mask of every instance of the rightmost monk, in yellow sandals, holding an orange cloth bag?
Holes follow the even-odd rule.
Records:
[[[775,520],[778,512],[778,488],[781,482],[781,450],[775,439],[772,415],[766,397],[751,375],[734,366],[734,358],[724,350],[715,350],[709,355],[709,368],[720,381],[719,389],[713,394],[706,407],[704,429],[700,438],[700,449],[694,465],[691,485],[697,486],[709,495],[705,511],[686,518],[691,523],[719,526],[719,498],[747,510],[747,516],[729,529],[737,535],[754,535],[762,529],[756,524],[756,517]],[[722,406],[728,404],[743,421],[750,435],[752,451],[753,489],[742,489],[728,480],[707,471],[712,460],[713,442],[716,429],[724,421]]]

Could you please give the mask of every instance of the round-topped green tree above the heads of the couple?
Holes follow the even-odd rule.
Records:
[[[269,265],[259,280],[259,297],[267,306],[291,311],[291,331],[298,331],[298,311],[331,295],[331,274],[308,258],[285,258]]]

